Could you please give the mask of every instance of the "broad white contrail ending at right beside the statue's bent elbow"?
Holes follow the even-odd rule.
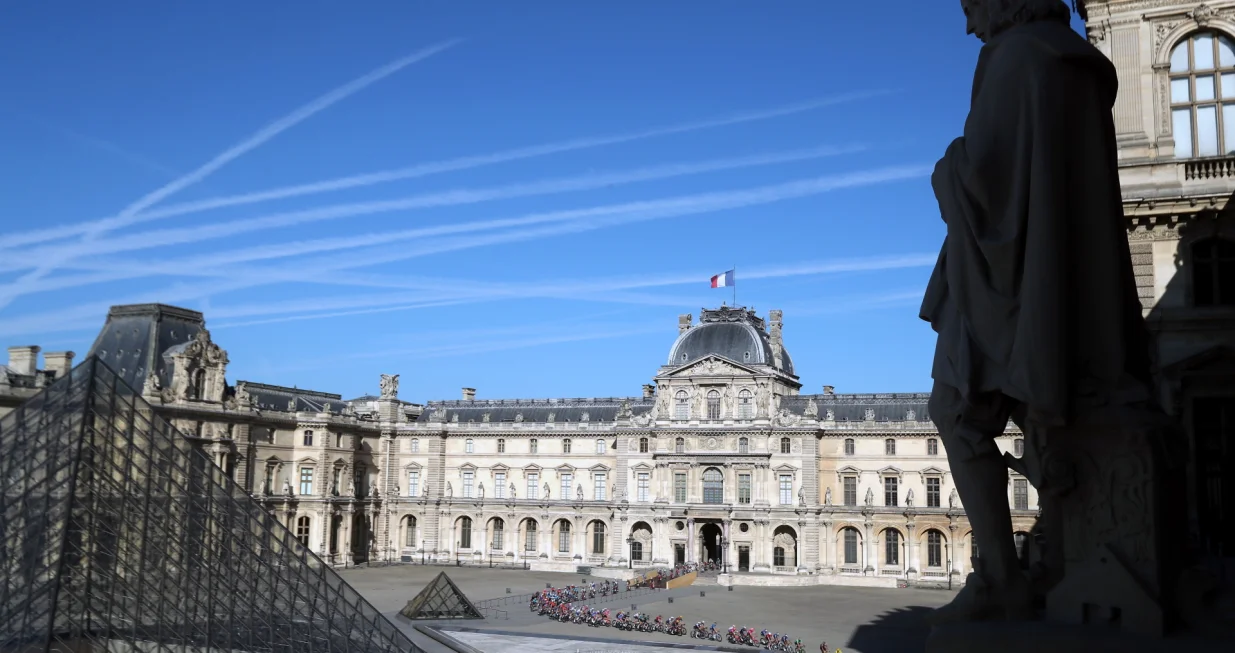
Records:
[[[760,204],[769,204],[788,199],[818,195],[842,188],[862,186],[895,181],[921,177],[929,172],[924,165],[889,167],[858,173],[846,173],[841,175],[825,175],[798,181],[757,186],[753,189],[737,191],[705,193],[698,195],[684,195],[663,200],[645,200],[625,204],[601,205],[588,209],[573,209],[563,211],[551,211],[545,214],[532,214],[521,217],[482,220],[454,225],[437,225],[396,232],[374,232],[346,238],[320,238],[293,243],[280,243],[273,246],[261,246],[237,252],[225,252],[221,254],[195,257],[170,263],[142,263],[116,265],[106,263],[106,269],[95,275],[79,275],[52,279],[46,281],[41,290],[61,290],[80,285],[114,281],[130,278],[147,277],[151,274],[184,274],[182,270],[204,270],[212,268],[231,267],[237,263],[249,263],[253,260],[267,260],[272,258],[300,257],[312,253],[338,252],[341,249],[353,249],[379,246],[369,249],[362,256],[354,256],[346,260],[330,257],[324,260],[300,263],[294,270],[282,274],[287,280],[304,280],[303,270],[317,270],[321,273],[337,272],[354,267],[368,267],[379,263],[391,263],[429,254],[469,249],[488,244],[529,241],[542,237],[576,233],[580,231],[593,231],[618,223],[627,223],[643,220],[657,220],[666,217],[678,217],[713,212],[720,210],[739,209]],[[590,222],[588,220],[592,220]],[[538,230],[500,231],[516,227],[531,227],[546,223],[563,223]],[[207,227],[209,228],[209,227]],[[429,241],[414,248],[404,246],[389,247],[393,243],[404,241],[424,241],[426,238],[442,237],[456,233],[469,232],[495,232],[469,238],[456,238],[452,241]],[[159,243],[165,244],[165,243]],[[80,265],[80,264],[79,264]],[[231,270],[235,275],[236,270]],[[191,274],[191,273],[190,273]],[[279,270],[263,269],[257,273],[245,275],[247,279],[261,279],[261,283],[277,283],[280,279]],[[249,281],[238,281],[247,284]],[[232,288],[248,288],[241,285]],[[2,286],[0,286],[2,290]]]

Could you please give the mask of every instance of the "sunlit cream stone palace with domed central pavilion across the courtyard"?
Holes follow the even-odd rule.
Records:
[[[667,337],[673,335],[672,326]],[[91,347],[300,542],[366,560],[595,573],[716,560],[734,583],[960,581],[976,543],[927,394],[804,394],[781,311],[679,317],[638,394],[411,404],[226,379],[199,312],[115,306]],[[11,347],[0,411],[72,353]],[[1020,453],[1009,425],[1002,447]],[[1026,479],[1008,501],[1028,559]]]

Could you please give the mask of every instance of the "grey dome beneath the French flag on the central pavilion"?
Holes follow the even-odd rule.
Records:
[[[776,365],[772,338],[762,318],[743,309],[703,311],[698,326],[688,328],[669,349],[668,364],[685,365],[709,356],[720,356],[747,365]],[[781,349],[782,372],[793,374],[789,352]]]

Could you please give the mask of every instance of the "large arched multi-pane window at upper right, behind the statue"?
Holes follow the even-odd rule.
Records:
[[[1177,158],[1235,152],[1235,41],[1197,32],[1171,51],[1171,123]]]

